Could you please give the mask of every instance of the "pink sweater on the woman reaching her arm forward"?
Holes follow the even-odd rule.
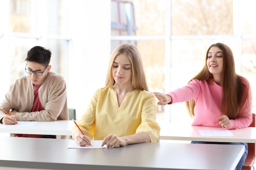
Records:
[[[246,102],[242,104],[238,117],[230,120],[231,126],[228,129],[245,128],[252,122],[251,88],[247,79],[243,78],[243,83],[249,90],[249,96],[248,99],[245,99]],[[195,117],[192,123],[193,126],[221,126],[219,124],[216,125],[216,123],[217,118],[221,116],[220,104],[222,100],[222,87],[216,84],[212,79],[209,81],[193,79],[186,86],[178,88],[166,95],[172,97],[171,104],[185,102],[191,99],[195,100]]]

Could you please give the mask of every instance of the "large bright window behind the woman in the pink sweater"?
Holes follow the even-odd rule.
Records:
[[[236,72],[249,80],[256,98],[255,5],[254,0],[112,0],[112,22],[121,16],[124,25],[122,34],[112,27],[112,49],[136,42],[150,91],[167,93],[186,85],[202,69],[208,47],[222,42],[232,49]],[[126,6],[132,7],[130,13],[125,13]],[[136,28],[132,34],[127,31],[128,18]],[[185,104],[179,103],[158,106],[157,119],[191,118]]]

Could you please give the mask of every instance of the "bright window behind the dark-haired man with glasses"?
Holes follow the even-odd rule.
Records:
[[[67,0],[9,1],[11,81],[25,75],[25,57],[33,46],[52,51],[52,71],[67,79]]]

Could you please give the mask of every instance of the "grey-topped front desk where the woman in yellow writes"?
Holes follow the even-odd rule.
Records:
[[[243,145],[142,143],[119,148],[67,148],[71,139],[0,137],[0,169],[234,170]]]

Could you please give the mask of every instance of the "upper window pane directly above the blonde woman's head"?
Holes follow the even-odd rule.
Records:
[[[165,0],[111,2],[111,35],[164,35]]]

